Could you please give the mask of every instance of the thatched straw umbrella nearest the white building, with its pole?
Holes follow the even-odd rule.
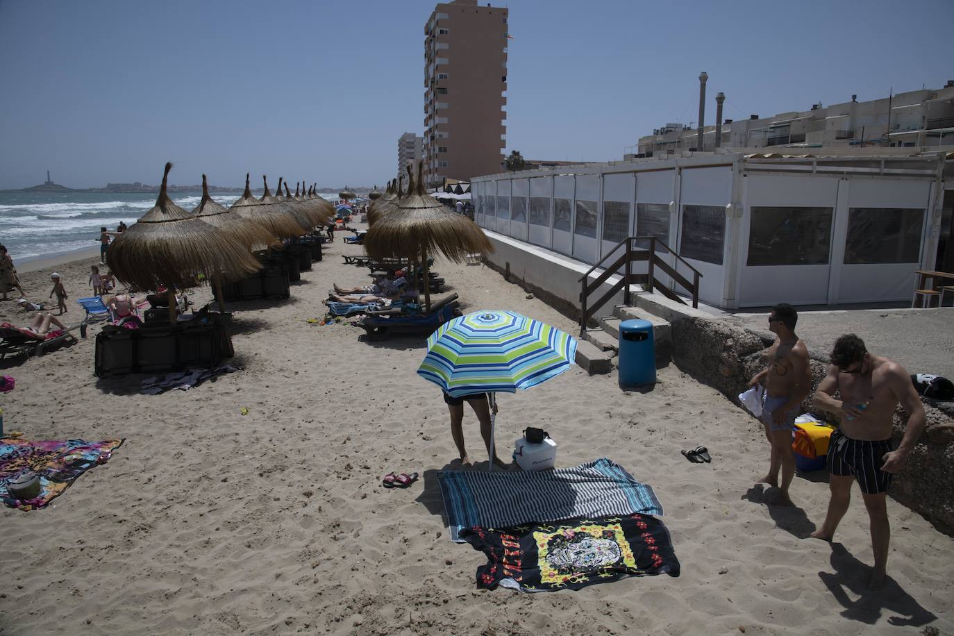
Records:
[[[428,196],[424,187],[424,162],[418,163],[415,182],[407,168],[407,195],[395,201],[397,209],[378,219],[364,236],[364,250],[374,258],[410,257],[420,259],[424,269],[425,306],[430,311],[430,284],[427,255],[440,252],[462,262],[468,254],[493,251],[484,231],[467,216],[447,210]]]

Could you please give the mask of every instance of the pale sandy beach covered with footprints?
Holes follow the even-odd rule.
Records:
[[[441,394],[415,373],[423,339],[364,342],[349,321],[306,321],[323,316],[333,282],[366,284],[366,269],[342,262],[361,254],[345,234],[289,300],[229,307],[240,371],[192,390],[143,396],[142,376],[97,380],[99,326],[42,358],[4,360],[17,380],[0,402],[7,431],[125,443],[48,508],[0,510],[0,633],[954,633],[954,539],[889,499],[891,580],[867,592],[857,488],[835,543],[807,538],[828,502],[824,473],[796,477],[795,507],[768,505],[756,484],[769,457],[761,425],[674,365],[647,392],[573,366],[501,395],[497,443],[508,458],[525,427],[541,426],[558,466],[607,457],[651,484],[681,576],[536,595],[477,589],[484,555],[449,542],[441,518],[435,472],[459,462]],[[21,280],[31,300],[46,299],[55,267],[66,321],[77,321],[96,261],[21,268]],[[484,266],[434,269],[466,313],[508,309],[577,333]],[[193,299],[209,297],[203,288]],[[29,317],[0,303],[0,321]],[[469,409],[465,435],[486,469]],[[680,454],[697,445],[712,463]],[[391,471],[422,478],[386,489]]]

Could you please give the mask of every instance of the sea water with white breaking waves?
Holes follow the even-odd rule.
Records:
[[[176,205],[192,211],[201,192],[172,195]],[[239,193],[212,195],[228,207]],[[115,232],[119,221],[135,219],[156,205],[156,194],[111,193],[0,193],[0,243],[14,263],[94,248],[99,228]]]

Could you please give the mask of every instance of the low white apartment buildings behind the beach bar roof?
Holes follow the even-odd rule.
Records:
[[[708,105],[711,108],[713,105]],[[713,113],[714,110],[709,110]],[[954,144],[954,80],[942,89],[899,92],[866,102],[851,101],[808,111],[778,113],[771,117],[753,114],[749,119],[725,119],[716,143],[716,126],[703,129],[703,147],[698,148],[695,126],[668,123],[639,137],[637,154],[658,156],[686,151],[730,148],[838,148],[838,147],[930,147]]]

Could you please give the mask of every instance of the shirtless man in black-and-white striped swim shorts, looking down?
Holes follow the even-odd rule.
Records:
[[[885,494],[891,474],[902,470],[904,460],[924,430],[924,407],[907,371],[897,362],[868,353],[854,334],[835,341],[828,375],[815,392],[815,405],[841,414],[841,424],[828,443],[831,500],[828,514],[812,537],[831,541],[851,501],[856,479],[871,521],[875,567],[871,587],[884,584],[891,527]],[[834,398],[840,391],[841,400]],[[901,402],[909,414],[897,450],[891,441],[891,420]]]

